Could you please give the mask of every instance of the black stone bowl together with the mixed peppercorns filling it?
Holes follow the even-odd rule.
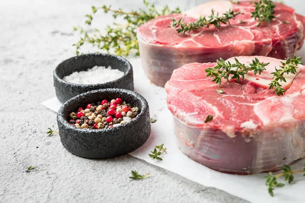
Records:
[[[94,90],[66,101],[57,124],[60,141],[72,154],[111,158],[136,150],[148,139],[149,107],[131,90]]]

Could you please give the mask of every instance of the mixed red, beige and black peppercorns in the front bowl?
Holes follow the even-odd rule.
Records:
[[[88,104],[85,109],[79,107],[70,113],[69,123],[78,128],[103,129],[124,125],[139,113],[138,107],[131,107],[121,98],[104,99],[98,103]]]

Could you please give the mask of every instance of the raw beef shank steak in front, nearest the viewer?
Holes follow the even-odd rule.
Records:
[[[236,58],[245,64],[254,59]],[[270,62],[261,75],[248,72],[245,80],[222,80],[220,87],[204,71],[217,63],[190,63],[173,72],[165,85],[167,104],[184,154],[232,174],[276,171],[305,156],[305,66],[284,75],[287,91],[278,96],[268,84],[282,60],[257,58]],[[205,123],[208,115],[214,118]]]

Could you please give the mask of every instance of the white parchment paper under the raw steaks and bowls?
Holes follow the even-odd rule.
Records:
[[[172,115],[166,104],[165,89],[150,83],[141,69],[140,58],[130,58],[129,60],[134,68],[135,91],[146,98],[150,116],[157,119],[156,123],[151,124],[151,134],[146,143],[136,151],[131,152],[132,156],[163,167],[204,186],[218,188],[251,202],[305,202],[305,178],[302,177],[302,174],[295,175],[292,184],[276,188],[275,197],[271,197],[265,186],[265,174],[249,176],[223,174],[210,170],[182,154],[176,145]],[[56,97],[43,101],[41,104],[55,112],[62,106]],[[161,156],[163,161],[151,159],[148,156],[150,150],[162,143],[167,148],[167,153]],[[300,170],[304,164],[305,159],[299,160],[292,165],[292,169]]]

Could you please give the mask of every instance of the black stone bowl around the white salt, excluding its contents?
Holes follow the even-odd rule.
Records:
[[[76,84],[63,78],[74,72],[87,71],[94,66],[111,66],[112,69],[123,71],[125,75],[117,80],[101,84]],[[128,60],[111,54],[85,54],[69,58],[60,63],[53,73],[54,87],[58,100],[65,103],[68,99],[95,89],[123,88],[134,90],[132,65]]]

